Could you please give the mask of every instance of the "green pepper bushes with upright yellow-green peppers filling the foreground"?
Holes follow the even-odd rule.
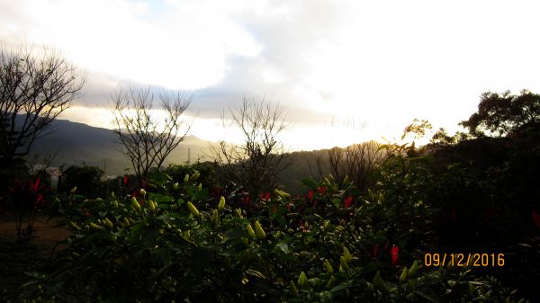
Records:
[[[119,302],[517,302],[473,268],[421,265],[431,211],[424,159],[392,153],[365,195],[329,175],[275,190],[253,216],[186,174],[136,196],[68,205],[72,236],[25,296]],[[396,149],[392,149],[396,150]],[[67,197],[73,201],[75,194]],[[232,197],[232,199],[235,199]],[[410,226],[414,222],[414,226]],[[425,252],[425,251],[424,251]],[[419,263],[420,261],[420,263]]]

